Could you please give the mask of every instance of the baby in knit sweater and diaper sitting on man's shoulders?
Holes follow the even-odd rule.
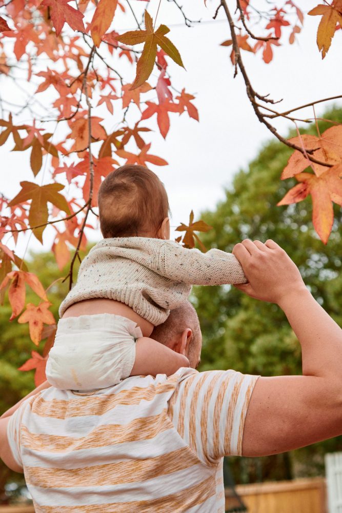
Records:
[[[188,367],[185,354],[149,336],[192,285],[245,283],[231,253],[202,253],[170,241],[164,185],[143,166],[112,171],[98,192],[104,239],[79,267],[59,307],[49,383],[78,391],[106,388],[135,375],[170,376]]]

